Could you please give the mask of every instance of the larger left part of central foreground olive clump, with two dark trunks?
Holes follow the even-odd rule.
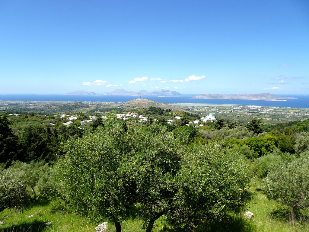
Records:
[[[121,120],[108,115],[104,127],[65,144],[58,165],[62,194],[79,213],[111,218],[117,232],[130,206],[141,203],[151,231],[171,200],[166,183],[179,167],[177,141],[157,124],[126,131]]]

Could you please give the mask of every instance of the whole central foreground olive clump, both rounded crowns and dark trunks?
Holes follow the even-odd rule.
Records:
[[[113,114],[104,127],[67,142],[58,164],[61,193],[79,213],[111,218],[116,231],[135,204],[147,232],[166,215],[189,227],[234,210],[248,183],[241,157],[222,144],[187,150],[166,127],[125,129]],[[185,215],[185,218],[184,218]]]

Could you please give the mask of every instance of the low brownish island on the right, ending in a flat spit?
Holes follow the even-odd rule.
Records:
[[[297,99],[295,97],[280,97],[271,93],[258,93],[258,94],[200,94],[191,98],[202,99],[224,99],[224,100],[261,100],[261,101],[286,101],[282,99]]]

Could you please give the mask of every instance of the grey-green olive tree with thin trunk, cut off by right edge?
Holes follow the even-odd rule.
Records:
[[[294,225],[295,212],[309,207],[309,157],[302,156],[290,163],[273,167],[264,179],[262,189],[271,200],[290,207]]]

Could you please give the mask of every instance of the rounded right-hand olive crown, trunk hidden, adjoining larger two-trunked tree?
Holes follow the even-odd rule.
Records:
[[[195,144],[184,154],[177,175],[176,192],[167,218],[193,230],[238,211],[248,200],[248,165],[242,156],[220,142]]]

